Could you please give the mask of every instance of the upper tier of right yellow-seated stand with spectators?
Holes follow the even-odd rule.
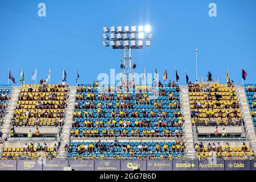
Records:
[[[189,85],[191,118],[196,126],[240,126],[240,104],[233,85]]]

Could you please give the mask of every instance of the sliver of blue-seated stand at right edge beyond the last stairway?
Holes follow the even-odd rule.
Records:
[[[256,84],[245,84],[244,87],[251,117],[253,118],[254,130],[256,131]]]

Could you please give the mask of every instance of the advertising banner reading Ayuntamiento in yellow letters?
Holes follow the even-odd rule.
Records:
[[[224,160],[199,160],[199,171],[224,171]]]

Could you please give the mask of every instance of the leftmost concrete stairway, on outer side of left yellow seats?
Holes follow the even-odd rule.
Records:
[[[3,119],[2,133],[3,139],[7,138],[7,134],[9,133],[11,119],[13,119],[14,109],[18,103],[20,93],[20,86],[14,86],[13,92],[11,93],[11,100],[6,110],[5,118]],[[0,151],[2,149],[3,144],[0,144]]]

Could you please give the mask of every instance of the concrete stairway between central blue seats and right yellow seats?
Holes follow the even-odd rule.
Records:
[[[180,86],[180,101],[181,109],[184,115],[184,134],[185,134],[185,144],[187,146],[187,156],[195,156],[195,150],[193,146],[193,130],[191,122],[191,111],[188,97],[188,87]]]

